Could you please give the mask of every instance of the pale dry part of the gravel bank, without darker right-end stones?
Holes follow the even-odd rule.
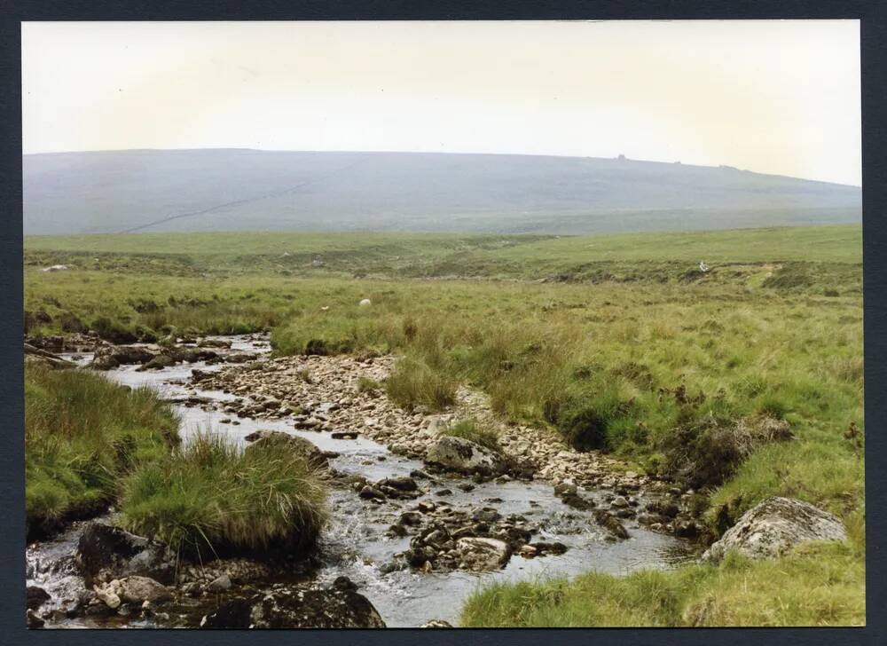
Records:
[[[405,411],[381,390],[359,392],[361,377],[384,380],[396,358],[285,357],[250,366],[196,375],[200,388],[225,390],[239,398],[224,407],[232,418],[289,419],[299,429],[357,431],[388,445],[393,453],[424,459],[437,429],[472,417],[498,430],[503,453],[527,464],[536,479],[553,484],[569,480],[588,488],[656,487],[648,477],[627,471],[623,463],[597,452],[579,453],[550,429],[509,425],[491,412],[487,398],[460,388],[458,401],[445,414]]]

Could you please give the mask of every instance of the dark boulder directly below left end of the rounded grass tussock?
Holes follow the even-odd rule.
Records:
[[[106,524],[87,525],[75,561],[87,585],[126,576],[169,584],[176,577],[175,555],[166,545]]]

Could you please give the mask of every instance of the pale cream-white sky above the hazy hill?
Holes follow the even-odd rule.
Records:
[[[857,20],[22,24],[23,152],[554,154],[861,183]]]

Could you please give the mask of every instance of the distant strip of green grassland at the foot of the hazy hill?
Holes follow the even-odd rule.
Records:
[[[456,235],[449,233],[140,233],[30,236],[26,265],[72,264],[130,272],[271,273],[388,277],[512,277],[595,269],[631,278],[669,264],[859,263],[859,225],[600,236]],[[318,261],[318,262],[316,262]],[[671,268],[673,269],[673,268]]]

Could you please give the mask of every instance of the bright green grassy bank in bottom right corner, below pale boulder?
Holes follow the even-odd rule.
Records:
[[[863,624],[865,561],[851,543],[806,544],[774,561],[731,554],[720,565],[625,577],[494,583],[461,616],[467,627]]]

